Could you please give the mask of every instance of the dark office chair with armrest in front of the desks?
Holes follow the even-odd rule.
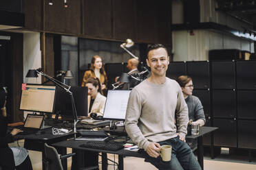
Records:
[[[47,170],[63,170],[63,167],[61,165],[61,160],[69,158],[70,156],[74,156],[76,153],[67,154],[67,155],[59,155],[57,150],[54,147],[51,147],[45,143],[45,160],[43,162],[45,163],[45,167]],[[98,166],[94,167],[86,167],[86,168],[80,168],[79,170],[93,170],[98,169]]]

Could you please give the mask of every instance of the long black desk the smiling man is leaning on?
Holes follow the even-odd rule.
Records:
[[[198,162],[202,169],[204,169],[204,147],[202,143],[202,136],[204,134],[208,134],[210,132],[213,132],[214,130],[217,130],[218,127],[200,127],[200,133],[198,135],[191,135],[186,136],[186,138],[198,138]],[[103,170],[107,169],[107,153],[109,154],[118,154],[118,169],[123,169],[123,157],[124,156],[133,156],[138,158],[145,158],[142,154],[136,152],[136,151],[128,151],[125,149],[120,149],[118,151],[109,151],[109,150],[100,150],[100,149],[90,149],[85,147],[79,147],[79,145],[83,144],[85,141],[75,141],[74,139],[68,140],[68,141],[61,141],[58,143],[54,143],[54,147],[63,147],[65,149],[66,147],[71,147],[73,149],[81,149],[81,150],[88,150],[88,151],[98,151],[103,153],[102,162],[103,162]]]

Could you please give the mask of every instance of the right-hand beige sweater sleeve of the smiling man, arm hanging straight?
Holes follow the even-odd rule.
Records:
[[[189,123],[189,110],[186,106],[186,101],[184,100],[184,96],[182,94],[181,88],[178,88],[178,97],[177,97],[177,106],[176,106],[176,115],[177,115],[177,125],[180,136],[186,136],[186,127]]]

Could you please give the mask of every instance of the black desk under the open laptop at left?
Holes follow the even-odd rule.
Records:
[[[59,141],[65,141],[67,138],[72,138],[74,136],[74,132],[70,132],[67,134],[61,134],[61,135],[53,135],[52,134],[52,128],[49,128],[47,130],[42,130],[45,132],[45,134],[29,134],[29,135],[20,135],[17,134],[15,138],[17,140],[25,139],[24,147],[28,150],[34,150],[34,151],[41,151],[42,152],[42,165],[43,169],[45,169],[45,165],[43,163],[43,158],[45,158],[45,149],[44,149],[44,143],[47,143],[51,145],[52,143],[57,143]],[[58,154],[67,154],[67,149],[59,149]],[[67,160],[62,160],[63,167],[67,169]]]

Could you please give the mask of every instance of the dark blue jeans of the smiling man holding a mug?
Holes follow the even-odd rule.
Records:
[[[189,145],[180,141],[180,138],[177,136],[171,138],[167,141],[162,141],[160,145],[171,145],[171,161],[163,162],[162,158],[153,158],[143,151],[145,154],[145,162],[150,162],[158,169],[162,170],[182,170],[182,169],[191,169],[191,170],[200,170],[201,167],[198,163],[198,160],[195,158],[193,151],[190,149]]]

